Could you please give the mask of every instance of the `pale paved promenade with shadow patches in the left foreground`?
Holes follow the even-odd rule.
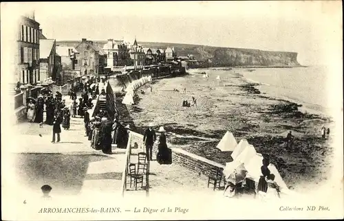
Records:
[[[63,99],[67,105],[72,103],[69,96],[63,96]],[[93,103],[95,107],[96,100]],[[28,181],[27,185],[30,185],[30,188],[39,189],[43,181],[39,181],[39,177],[32,176],[36,176],[41,170],[44,170],[45,175],[41,180],[56,183],[55,193],[66,189],[65,184],[58,185],[61,182],[67,183],[69,188],[74,188],[74,192],[78,192],[78,194],[97,190],[119,191],[125,166],[126,158],[123,154],[125,150],[113,147],[114,154],[103,154],[101,150],[91,148],[90,141],[85,137],[83,118],[80,117],[71,117],[69,130],[63,130],[62,126],[61,129],[61,142],[51,143],[52,126],[43,124],[43,127],[40,128],[39,124],[29,122],[14,126],[15,139],[13,139],[13,145],[6,150],[9,153],[17,154],[18,161],[20,161],[17,164],[19,167],[25,168],[25,172],[18,174],[19,176],[28,176],[23,178],[25,180],[23,182]],[[65,156],[61,156],[61,154]],[[55,162],[52,163],[52,161]],[[76,163],[73,163],[74,161]],[[54,165],[56,163],[58,165]],[[41,168],[40,171],[36,171],[38,170],[37,166]],[[80,169],[80,167],[83,168]],[[77,173],[75,174],[72,170]],[[68,180],[65,180],[67,178]],[[78,181],[74,181],[77,179]],[[32,182],[32,180],[37,181]]]

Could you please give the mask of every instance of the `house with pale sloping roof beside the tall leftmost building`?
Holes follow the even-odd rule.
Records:
[[[41,39],[39,51],[41,51],[39,54],[41,81],[52,78],[60,82],[62,80],[61,56],[56,54],[56,40]]]

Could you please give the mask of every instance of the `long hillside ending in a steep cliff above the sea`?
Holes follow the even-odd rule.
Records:
[[[95,40],[103,47],[106,40]],[[76,47],[80,41],[56,41],[57,45]],[[259,49],[240,49],[227,47],[211,47],[205,45],[188,45],[179,43],[138,42],[143,47],[166,49],[174,47],[178,56],[193,54],[195,60],[207,61],[213,67],[226,66],[299,66],[297,53],[288,51],[261,51]]]

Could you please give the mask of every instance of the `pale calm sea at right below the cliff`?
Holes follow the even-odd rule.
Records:
[[[261,93],[302,104],[301,110],[331,115],[330,73],[326,67],[238,69]]]

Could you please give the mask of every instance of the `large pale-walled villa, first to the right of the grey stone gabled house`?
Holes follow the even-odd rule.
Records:
[[[107,56],[107,67],[129,65],[128,63],[128,47],[123,40],[107,39],[103,50]]]

